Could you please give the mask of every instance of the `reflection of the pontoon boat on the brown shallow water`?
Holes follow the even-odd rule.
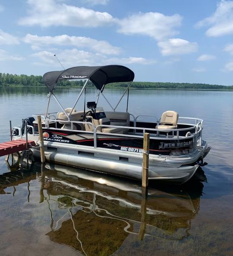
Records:
[[[55,165],[31,179],[37,177],[40,202],[47,201],[51,218],[46,235],[85,255],[111,255],[129,235],[183,239],[198,214],[203,188],[195,180],[182,187],[150,187],[142,201],[139,183],[101,173]]]

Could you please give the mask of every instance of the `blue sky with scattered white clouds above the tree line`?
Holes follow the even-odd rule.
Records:
[[[123,64],[135,81],[232,85],[233,1],[0,0],[0,72]]]

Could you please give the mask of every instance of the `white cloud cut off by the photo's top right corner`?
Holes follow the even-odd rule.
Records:
[[[221,0],[215,12],[201,21],[196,27],[211,26],[205,34],[207,36],[222,36],[233,34],[233,1]]]

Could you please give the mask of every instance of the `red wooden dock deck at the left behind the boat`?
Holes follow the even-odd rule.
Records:
[[[28,148],[34,147],[35,141],[28,140]],[[7,141],[0,143],[0,157],[13,154],[26,149],[26,140]]]

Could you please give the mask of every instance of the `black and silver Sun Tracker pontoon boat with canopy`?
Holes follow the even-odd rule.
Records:
[[[132,179],[142,178],[143,134],[150,133],[149,179],[186,182],[208,154],[210,147],[202,140],[203,120],[180,117],[175,111],[166,111],[160,119],[152,116],[134,116],[128,112],[129,87],[134,73],[127,67],[108,65],[100,67],[71,67],[62,71],[47,72],[43,76],[49,90],[48,106],[42,114],[45,156],[47,161],[88,170],[97,170]],[[60,80],[85,80],[73,106],[64,109],[54,94]],[[96,101],[87,102],[82,110],[76,104],[91,81],[98,95]],[[104,96],[108,83],[129,82],[116,106]],[[102,95],[111,111],[98,106]],[[127,96],[126,112],[116,108]],[[49,113],[50,98],[54,97],[61,112]],[[86,109],[87,108],[87,109]],[[139,121],[144,118],[145,121]],[[30,118],[31,120],[31,118]],[[34,119],[33,119],[34,120]],[[38,141],[37,121],[28,127],[28,139]],[[24,136],[23,128],[14,138]],[[38,147],[32,149],[39,156]]]

